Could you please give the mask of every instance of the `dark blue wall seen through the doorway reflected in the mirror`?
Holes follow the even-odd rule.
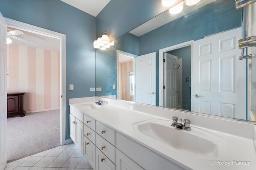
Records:
[[[184,110],[191,110],[191,88],[189,79],[191,76],[191,47],[183,47],[180,49],[167,52],[175,55],[178,59],[182,59],[182,108]]]

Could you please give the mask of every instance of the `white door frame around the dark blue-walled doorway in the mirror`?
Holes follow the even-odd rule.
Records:
[[[192,83],[193,82],[192,81],[193,80],[193,42],[194,42],[194,40],[191,40],[191,41],[176,44],[176,45],[166,47],[164,49],[159,50],[159,106],[164,106],[164,100],[163,100],[163,96],[164,96],[164,89],[163,89],[163,86],[164,86],[164,76],[163,76],[164,75],[164,63],[163,63],[163,59],[164,59],[164,53],[165,52],[190,46],[190,54],[191,54],[191,94],[193,94],[193,83]],[[193,106],[193,99],[191,97],[191,109],[192,109],[192,106]]]

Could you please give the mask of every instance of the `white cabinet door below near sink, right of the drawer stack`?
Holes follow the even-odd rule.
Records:
[[[144,170],[136,162],[116,149],[116,170]]]

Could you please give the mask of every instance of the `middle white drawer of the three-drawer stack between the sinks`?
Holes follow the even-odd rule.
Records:
[[[116,147],[111,145],[108,141],[96,134],[96,147],[100,149],[108,158],[116,164]]]

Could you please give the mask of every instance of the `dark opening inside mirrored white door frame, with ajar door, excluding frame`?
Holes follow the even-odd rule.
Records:
[[[191,110],[191,47],[164,53],[164,107]]]

